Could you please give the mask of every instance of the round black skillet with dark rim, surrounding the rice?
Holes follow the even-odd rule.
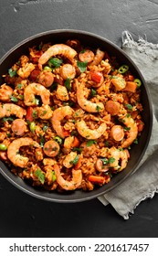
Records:
[[[128,176],[132,175],[135,171],[137,165],[140,163],[142,156],[145,153],[149,139],[151,136],[152,126],[153,126],[153,109],[151,98],[149,92],[146,88],[145,81],[143,80],[140,70],[136,65],[122,50],[117,47],[109,40],[91,34],[89,32],[80,30],[53,30],[47,31],[41,34],[37,34],[33,37],[28,37],[26,40],[22,41],[15,48],[12,48],[5,54],[5,57],[0,61],[0,82],[4,82],[2,75],[7,72],[7,70],[16,63],[17,59],[23,54],[28,53],[28,48],[39,45],[41,42],[52,44],[65,43],[68,39],[79,39],[85,46],[90,46],[92,48],[101,48],[110,53],[110,55],[115,56],[119,60],[120,64],[126,64],[130,67],[132,74],[136,78],[142,80],[142,95],[141,101],[144,108],[142,112],[142,120],[145,123],[142,136],[139,138],[139,144],[133,144],[130,151],[131,159],[127,167],[118,175],[111,179],[111,182],[103,187],[95,188],[93,191],[84,192],[81,190],[76,190],[73,192],[58,193],[56,191],[48,192],[37,187],[31,187],[28,183],[23,181],[20,177],[15,176],[10,172],[8,167],[0,161],[0,172],[5,178],[11,182],[14,186],[20,188],[22,191],[26,192],[28,195],[37,197],[40,199],[45,199],[52,202],[62,202],[62,203],[72,203],[89,200],[95,197],[99,197],[102,194],[109,192],[112,188],[121,184]]]

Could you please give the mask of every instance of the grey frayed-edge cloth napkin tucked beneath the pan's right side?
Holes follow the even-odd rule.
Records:
[[[153,131],[146,153],[136,171],[99,199],[105,206],[110,203],[123,219],[129,219],[142,200],[152,198],[158,192],[158,44],[147,42],[142,37],[136,42],[128,31],[123,31],[122,49],[142,71],[150,91],[153,102]]]

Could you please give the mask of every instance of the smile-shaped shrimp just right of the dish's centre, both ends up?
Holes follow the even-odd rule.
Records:
[[[103,133],[105,133],[106,128],[107,128],[106,123],[101,123],[99,128],[94,130],[91,130],[83,120],[80,120],[77,123],[77,129],[79,134],[88,140],[96,140],[100,138],[100,136]]]

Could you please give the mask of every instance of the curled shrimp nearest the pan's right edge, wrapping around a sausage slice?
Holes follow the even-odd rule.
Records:
[[[132,119],[131,116],[125,116],[122,119],[120,119],[122,123],[126,125],[128,128],[127,132],[127,139],[121,144],[121,147],[128,147],[132,144],[132,142],[136,139],[138,135],[138,126],[135,123],[135,121]]]

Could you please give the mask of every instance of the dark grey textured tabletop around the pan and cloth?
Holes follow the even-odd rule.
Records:
[[[157,0],[1,0],[0,58],[21,40],[58,28],[86,30],[121,46],[121,32],[157,43]],[[158,196],[129,220],[98,199],[57,204],[29,197],[0,176],[0,237],[158,237]]]

